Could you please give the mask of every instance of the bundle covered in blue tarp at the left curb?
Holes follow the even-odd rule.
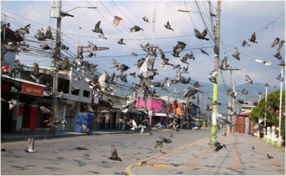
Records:
[[[85,124],[87,128],[89,128],[89,134],[92,135],[93,130],[93,120],[94,120],[94,113],[78,113],[77,120],[75,125],[75,132],[82,133],[82,124]]]

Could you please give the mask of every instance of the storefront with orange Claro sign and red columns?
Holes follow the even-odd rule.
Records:
[[[14,86],[18,93],[11,93],[11,86]],[[3,119],[2,124],[5,124],[7,127],[3,126],[2,131],[36,130],[36,128],[38,130],[46,127],[43,121],[49,119],[50,114],[43,114],[39,107],[45,106],[49,108],[48,104],[51,103],[51,98],[43,96],[44,87],[44,85],[31,81],[10,78],[6,75],[2,76],[2,98],[7,101],[13,98],[20,103],[12,110],[9,110],[9,103],[2,104],[1,120],[3,119],[2,114],[5,114],[5,118],[7,118],[6,113],[10,115],[8,119],[11,119],[9,120],[11,121],[10,123],[6,122],[8,125],[5,124],[5,119]]]

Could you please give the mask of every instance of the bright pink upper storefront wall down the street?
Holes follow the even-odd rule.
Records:
[[[135,107],[137,108],[138,98],[135,98],[135,100],[136,100]],[[164,100],[148,98],[146,102],[146,109],[152,108],[154,113],[167,113],[167,108],[162,106],[164,104],[166,104]],[[144,107],[144,100],[143,98],[140,98],[139,109],[142,109],[143,107]]]

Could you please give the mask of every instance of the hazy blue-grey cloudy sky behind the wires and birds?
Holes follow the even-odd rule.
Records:
[[[105,7],[99,1],[89,1],[91,5],[96,6],[98,12],[100,12],[109,22],[112,23],[113,16],[119,16],[123,20],[120,24],[124,28],[129,30],[134,25],[140,26],[144,31],[141,31],[147,38],[152,38],[152,21],[153,21],[153,10],[155,7],[155,1],[115,1],[115,4],[120,8],[120,10],[128,17],[126,17],[118,7],[112,1],[102,1],[102,4],[109,10],[110,14]],[[57,2],[56,2],[57,3]],[[211,1],[214,7],[217,6],[216,1]],[[17,15],[30,19],[34,22],[38,22],[42,25],[48,26],[52,25],[53,28],[56,27],[56,19],[50,19],[50,6],[53,5],[53,1],[1,1],[1,8],[13,12]],[[186,5],[191,11],[198,11],[195,1],[186,1]],[[209,5],[206,1],[198,1],[199,8],[201,12],[209,16]],[[62,10],[70,10],[77,6],[90,6],[86,1],[63,1]],[[194,34],[194,25],[195,28],[200,32],[205,29],[204,23],[200,18],[198,13],[190,13],[191,18],[194,22],[194,25],[191,22],[190,16],[186,12],[178,12],[178,9],[186,9],[184,1],[157,1],[156,2],[156,18],[155,18],[155,32],[154,38],[162,37],[175,37],[175,36],[185,36]],[[81,35],[89,37],[80,37],[80,44],[87,46],[88,41],[92,41],[98,47],[109,47],[109,50],[98,51],[96,56],[87,59],[92,63],[99,63],[99,67],[113,73],[114,70],[109,69],[112,65],[111,59],[115,58],[119,63],[124,63],[130,66],[132,69],[131,72],[139,73],[139,69],[135,68],[133,65],[136,63],[136,60],[140,56],[132,57],[131,52],[134,51],[137,54],[146,54],[141,48],[140,44],[145,45],[147,42],[150,42],[141,32],[131,33],[127,32],[121,25],[117,27],[130,39],[145,39],[145,40],[127,40],[128,37],[123,35],[119,30],[116,29],[112,24],[110,24],[105,18],[100,15],[95,9],[88,8],[78,8],[71,12],[70,14],[74,15],[72,17],[64,17],[61,20],[61,32],[67,36],[63,36],[65,42],[68,42],[71,46],[70,49],[72,52],[76,52],[75,48],[78,45],[78,33],[79,26],[82,28]],[[215,8],[213,8],[215,10]],[[277,66],[279,61],[275,58],[277,46],[271,48],[271,44],[276,37],[285,40],[285,1],[222,1],[221,2],[221,39],[225,43],[226,50],[220,42],[220,53],[221,58],[227,56],[228,53],[228,63],[230,66],[235,66],[236,68],[242,69],[242,71],[236,71],[233,73],[233,80],[238,84],[245,82],[245,74],[248,74],[253,82],[263,82],[266,81],[270,85],[278,85],[279,81],[275,78],[280,74],[279,66]],[[17,23],[24,25],[31,23],[31,28],[37,30],[42,28],[42,25],[30,22],[26,19],[23,19],[19,16],[11,14],[2,9],[2,14],[6,14],[14,19],[7,18],[8,22],[11,22],[12,28],[19,28],[14,25]],[[3,20],[3,15],[1,14],[1,20]],[[216,10],[215,10],[216,14]],[[147,16],[151,23],[144,22],[142,17]],[[207,26],[209,26],[209,17],[203,15]],[[274,23],[272,21],[278,16],[282,15]],[[129,21],[132,21],[132,23]],[[11,21],[9,21],[11,20]],[[95,24],[98,21],[101,21],[100,27],[102,28],[105,37],[112,39],[121,39],[124,38],[126,46],[119,45],[118,40],[104,40],[97,39],[98,33],[94,33],[91,29],[94,29]],[[169,20],[171,27],[174,31],[168,30],[164,27],[164,24]],[[12,24],[14,23],[14,24]],[[215,21],[214,21],[215,23]],[[267,25],[270,23],[269,25]],[[267,25],[267,26],[265,26]],[[265,29],[265,27],[267,27]],[[264,28],[262,28],[264,27]],[[43,27],[46,30],[46,27]],[[259,30],[259,29],[263,30]],[[210,28],[209,28],[210,29]],[[211,30],[211,29],[210,29]],[[241,41],[243,38],[248,41],[250,39],[253,31],[257,32],[256,43],[250,43],[251,47],[246,46],[243,48],[241,46]],[[34,31],[30,30],[32,34]],[[71,35],[75,34],[75,35]],[[71,40],[70,38],[73,40]],[[247,38],[246,38],[247,37]],[[172,51],[173,46],[177,44],[177,41],[185,42],[190,48],[203,47],[201,41],[195,36],[186,36],[179,38],[169,38],[169,39],[154,39],[153,43],[158,45],[163,51]],[[210,39],[212,41],[212,39]],[[213,42],[202,41],[205,47],[214,46]],[[229,47],[229,46],[231,47]],[[75,47],[75,48],[73,48]],[[234,59],[231,54],[233,54],[234,47],[238,47],[240,52],[240,61]],[[186,47],[185,49],[190,49]],[[214,60],[214,52],[212,48],[204,49],[210,55],[211,59]],[[230,50],[230,51],[229,51]],[[210,57],[202,54],[198,49],[192,50],[194,52],[195,60],[188,60],[189,73],[185,74],[185,77],[191,76],[192,79],[198,80],[201,82],[209,82],[208,78],[210,77],[209,73],[213,70],[214,64],[211,61]],[[226,52],[227,51],[227,52]],[[183,51],[180,53],[180,56],[184,56],[189,51]],[[87,53],[88,54],[88,53]],[[127,55],[127,56],[126,56]],[[285,44],[281,49],[281,55],[285,61]],[[100,56],[126,56],[126,57],[106,57],[102,58]],[[165,56],[171,60],[171,63],[180,64],[181,67],[187,66],[187,64],[181,63],[180,58],[175,58],[171,53],[165,53]],[[145,57],[145,56],[141,56]],[[49,59],[37,58],[37,57],[28,57],[20,54],[18,57],[22,63],[30,64],[33,61],[43,61],[40,62],[40,65],[50,65]],[[107,60],[109,61],[107,61]],[[261,63],[256,63],[254,59],[267,60],[272,63],[272,66],[264,66]],[[30,60],[26,61],[25,60]],[[230,62],[232,61],[232,63]],[[160,63],[162,60],[157,57],[155,66],[157,69],[162,69]],[[277,69],[275,69],[277,68]],[[116,70],[115,70],[116,71]],[[118,73],[118,71],[116,71]],[[164,77],[175,77],[175,70],[167,68],[167,71],[159,71],[159,76],[156,76],[155,79],[161,80]],[[225,71],[226,83],[229,82],[229,71]],[[139,79],[129,79],[128,83],[137,82]],[[209,82],[210,83],[210,82]],[[220,77],[219,83],[222,83]]]

